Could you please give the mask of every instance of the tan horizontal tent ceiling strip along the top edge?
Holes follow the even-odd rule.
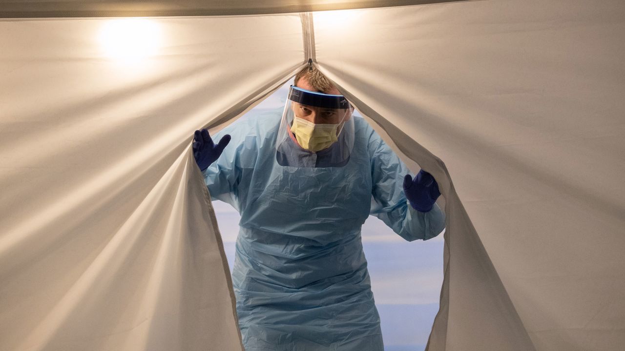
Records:
[[[436,4],[454,0],[2,1],[0,18],[232,16]]]

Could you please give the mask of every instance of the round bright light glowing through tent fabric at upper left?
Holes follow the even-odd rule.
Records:
[[[114,19],[104,24],[100,42],[106,56],[136,62],[158,53],[161,28],[148,19]]]

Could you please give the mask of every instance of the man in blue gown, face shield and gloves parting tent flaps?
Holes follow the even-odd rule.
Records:
[[[196,131],[212,197],[241,214],[232,282],[246,351],[382,351],[362,224],[375,215],[409,241],[444,229],[436,180],[422,170],[412,179],[352,112],[306,67],[282,116],[242,118],[217,145]]]

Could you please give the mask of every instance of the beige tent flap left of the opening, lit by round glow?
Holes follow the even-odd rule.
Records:
[[[189,141],[301,67],[301,20],[151,20],[138,61],[110,22],[0,22],[0,350],[242,350]]]

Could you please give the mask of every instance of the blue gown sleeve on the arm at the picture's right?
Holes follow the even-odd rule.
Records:
[[[445,213],[437,204],[429,212],[412,208],[402,187],[409,170],[374,131],[369,138],[369,150],[373,185],[370,213],[408,241],[432,239],[441,234],[445,229]]]

